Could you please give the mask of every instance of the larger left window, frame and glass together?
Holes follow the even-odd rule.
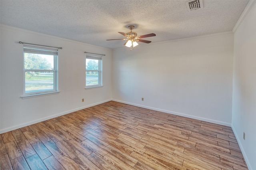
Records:
[[[24,45],[24,96],[58,91],[58,50]]]

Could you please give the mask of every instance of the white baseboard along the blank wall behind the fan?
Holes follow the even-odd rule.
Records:
[[[112,99],[112,101],[116,101],[116,102],[124,103],[124,104],[128,104],[128,105],[133,105],[133,106],[137,106],[137,107],[142,107],[142,108],[145,108],[145,109],[151,109],[151,110],[154,110],[154,111],[160,111],[160,112],[164,112],[164,113],[169,113],[169,114],[172,114],[172,115],[188,117],[188,118],[191,118],[191,119],[196,119],[196,120],[200,120],[200,121],[206,121],[206,122],[209,122],[209,123],[215,123],[215,124],[218,124],[218,125],[224,125],[224,126],[231,127],[231,123],[226,123],[226,122],[222,122],[222,121],[216,121],[216,120],[213,120],[213,119],[207,119],[207,118],[203,118],[203,117],[187,115],[187,114],[184,114],[184,113],[178,113],[178,112],[174,112],[174,111],[168,111],[168,110],[164,110],[164,109],[158,109],[158,108],[154,108],[154,107],[138,105],[138,104],[135,104],[135,103],[129,103],[129,102],[126,102],[126,101],[120,101],[120,100],[116,100],[116,99]]]

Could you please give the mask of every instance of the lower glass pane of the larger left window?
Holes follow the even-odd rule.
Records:
[[[53,71],[25,71],[25,93],[54,90]]]

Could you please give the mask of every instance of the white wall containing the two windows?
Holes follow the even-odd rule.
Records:
[[[0,133],[112,99],[112,50],[4,25],[0,34]],[[63,47],[58,58],[59,94],[20,98],[23,95],[23,45],[19,41]],[[84,51],[106,54],[102,59],[104,87],[84,89]]]

